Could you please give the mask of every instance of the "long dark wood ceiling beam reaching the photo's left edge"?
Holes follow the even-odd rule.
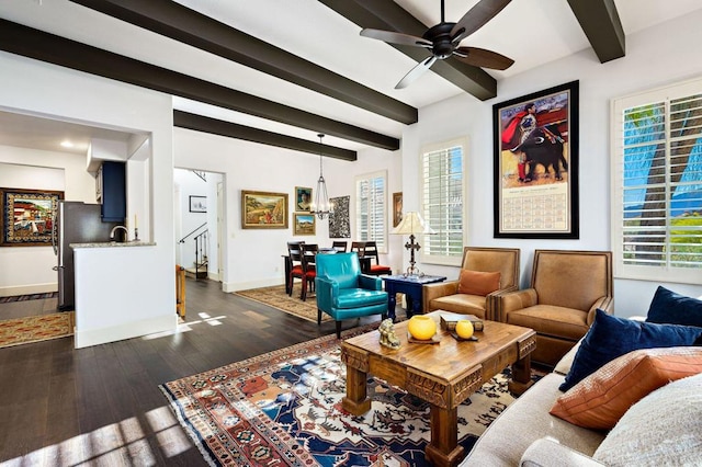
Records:
[[[382,149],[399,139],[0,19],[0,49]]]

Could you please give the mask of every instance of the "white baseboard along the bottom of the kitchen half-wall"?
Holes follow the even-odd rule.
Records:
[[[125,339],[140,338],[157,332],[172,332],[178,327],[176,314],[159,316],[136,322],[113,326],[110,328],[78,330],[73,333],[76,349],[90,345],[105,344],[107,342],[123,341]]]

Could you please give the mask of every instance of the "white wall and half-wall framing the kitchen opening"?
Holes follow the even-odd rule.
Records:
[[[156,246],[123,248],[121,260],[139,267],[120,267],[120,274],[110,270],[110,263],[97,263],[98,269],[92,271],[93,275],[99,277],[104,274],[111,281],[100,283],[90,291],[82,291],[82,303],[99,304],[82,312],[90,314],[91,317],[102,315],[111,318],[109,321],[97,319],[91,321],[93,328],[81,329],[81,310],[77,307],[77,342],[78,334],[82,331],[91,333],[91,343],[99,342],[101,337],[95,333],[109,331],[100,328],[101,326],[128,330],[129,323],[143,323],[132,329],[144,333],[174,329],[171,98],[8,53],[0,53],[0,109],[150,135],[148,184],[151,196],[148,223],[150,237]],[[77,89],[80,92],[76,92]],[[141,161],[146,159],[140,158]],[[67,183],[67,186],[70,185]],[[135,261],[128,261],[131,255]],[[148,267],[140,267],[143,260]],[[77,271],[79,269],[80,262]],[[135,275],[140,280],[135,281]],[[78,294],[81,293],[79,291],[80,285],[77,285]],[[114,322],[115,316],[118,317],[118,322]],[[134,335],[121,334],[122,339]]]

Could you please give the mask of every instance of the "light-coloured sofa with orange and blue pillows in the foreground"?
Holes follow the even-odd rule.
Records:
[[[650,392],[609,433],[551,415],[577,348],[488,426],[461,467],[702,465],[702,374]]]

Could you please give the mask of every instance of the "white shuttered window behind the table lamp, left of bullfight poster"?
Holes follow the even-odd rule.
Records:
[[[437,231],[421,242],[422,262],[457,264],[464,238],[465,140],[427,147],[421,155],[421,213]]]

